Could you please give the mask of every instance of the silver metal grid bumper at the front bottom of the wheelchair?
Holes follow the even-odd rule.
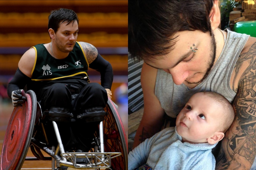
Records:
[[[120,152],[83,152],[83,153],[62,153],[61,157],[66,158],[64,160],[56,160],[56,165],[59,166],[68,166],[76,169],[85,169],[85,168],[110,168],[111,159],[117,156],[121,156]],[[87,163],[78,163],[78,159],[85,159]]]

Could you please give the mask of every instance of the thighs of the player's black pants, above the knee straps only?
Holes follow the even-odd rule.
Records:
[[[43,110],[51,107],[67,108],[71,112],[79,113],[84,109],[105,107],[108,101],[106,90],[98,83],[86,85],[72,101],[69,87],[63,83],[55,83],[41,92],[40,102]]]

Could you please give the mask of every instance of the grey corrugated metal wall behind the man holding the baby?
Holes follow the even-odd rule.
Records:
[[[128,114],[143,108],[143,93],[140,84],[140,72],[143,61],[133,59],[128,54]]]

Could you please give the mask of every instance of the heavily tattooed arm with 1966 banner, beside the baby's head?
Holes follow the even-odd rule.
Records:
[[[233,75],[235,119],[222,140],[216,169],[249,170],[256,156],[256,43],[241,53]]]

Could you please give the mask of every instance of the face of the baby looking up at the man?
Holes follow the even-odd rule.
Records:
[[[196,93],[177,116],[177,132],[183,142],[205,143],[222,119],[222,106],[203,93]]]

